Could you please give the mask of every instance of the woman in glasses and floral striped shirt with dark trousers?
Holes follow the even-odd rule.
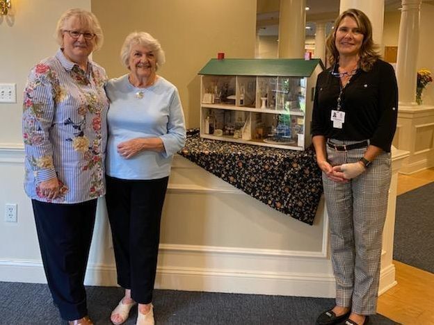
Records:
[[[69,324],[93,324],[83,286],[97,198],[105,194],[106,73],[88,57],[102,46],[95,15],[67,10],[55,56],[35,65],[24,90],[24,189],[31,198],[54,303]]]

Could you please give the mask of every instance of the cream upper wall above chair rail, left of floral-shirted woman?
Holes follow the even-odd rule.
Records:
[[[0,103],[0,143],[21,144],[22,92],[27,75],[42,58],[56,53],[53,34],[69,8],[90,9],[90,0],[14,0],[0,17],[0,83],[17,84],[17,103]]]

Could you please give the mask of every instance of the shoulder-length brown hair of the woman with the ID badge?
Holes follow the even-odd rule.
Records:
[[[333,27],[333,32],[327,38],[325,42],[325,46],[328,51],[328,61],[330,65],[335,65],[339,60],[339,52],[337,51],[335,40],[336,40],[336,32],[339,24],[341,24],[342,19],[345,17],[351,17],[357,23],[357,27],[360,29],[363,34],[363,42],[362,47],[360,47],[359,56],[360,56],[360,68],[363,71],[369,71],[373,66],[373,63],[376,62],[380,58],[380,53],[378,53],[378,47],[373,43],[372,40],[372,25],[369,21],[367,15],[364,12],[358,9],[348,9],[339,15],[335,20],[335,25]]]

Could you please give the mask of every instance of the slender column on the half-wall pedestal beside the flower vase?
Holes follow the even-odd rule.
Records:
[[[420,6],[421,0],[402,0],[396,62],[400,106],[416,105]]]

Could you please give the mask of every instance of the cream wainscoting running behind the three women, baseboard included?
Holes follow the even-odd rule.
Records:
[[[17,224],[0,227],[0,281],[45,283],[30,200],[22,191],[23,159],[22,146],[0,144],[0,207],[18,202],[19,210]],[[393,225],[387,231],[393,234]],[[303,224],[175,156],[156,288],[334,297],[328,247],[323,199],[314,225]],[[392,248],[383,244],[380,293],[395,283]],[[104,198],[99,199],[85,282],[116,285]]]

